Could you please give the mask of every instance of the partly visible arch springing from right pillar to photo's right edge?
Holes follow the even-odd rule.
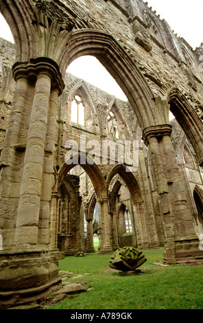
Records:
[[[171,89],[167,96],[171,112],[174,114],[178,124],[187,135],[195,153],[198,156],[200,166],[203,166],[203,124],[187,98],[179,89]]]

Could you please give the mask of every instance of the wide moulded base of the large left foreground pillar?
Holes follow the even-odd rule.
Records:
[[[54,250],[15,250],[0,252],[0,309],[36,302],[60,288],[58,260]]]

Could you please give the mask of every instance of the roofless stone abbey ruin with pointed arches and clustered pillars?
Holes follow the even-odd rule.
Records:
[[[203,44],[142,0],[0,0],[0,12],[15,42],[0,38],[0,307],[58,289],[58,260],[95,252],[94,234],[98,254],[164,247],[168,264],[203,263]],[[84,55],[128,102],[67,74]],[[136,169],[110,149],[102,163],[101,146],[88,162],[89,142],[119,140],[138,143]]]

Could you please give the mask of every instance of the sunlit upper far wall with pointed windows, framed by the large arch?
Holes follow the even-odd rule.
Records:
[[[58,105],[58,120],[62,118],[63,122],[62,148],[70,138],[80,142],[82,134],[86,135],[87,142],[100,140],[101,135],[109,139],[107,118],[110,110],[115,111],[117,115],[119,139],[132,139],[137,120],[128,102],[123,102],[71,74],[66,74],[65,80],[65,100],[60,100]],[[84,100],[85,126],[71,122],[71,100],[77,93]],[[63,149],[62,152],[66,153]],[[64,163],[64,156],[61,155],[60,158],[60,162]]]

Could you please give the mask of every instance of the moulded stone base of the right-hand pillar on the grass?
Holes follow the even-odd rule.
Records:
[[[163,259],[171,264],[203,263],[203,250],[196,237],[168,239],[165,244]]]

